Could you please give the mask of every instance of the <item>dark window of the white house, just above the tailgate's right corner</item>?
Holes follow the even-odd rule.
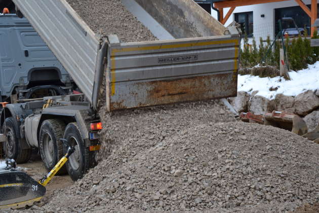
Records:
[[[247,37],[253,37],[253,33],[254,33],[253,12],[235,13],[234,15],[235,15],[235,22],[241,25],[243,33],[247,34]]]

